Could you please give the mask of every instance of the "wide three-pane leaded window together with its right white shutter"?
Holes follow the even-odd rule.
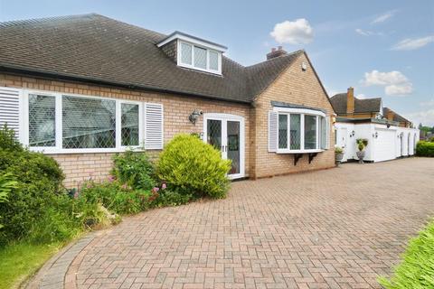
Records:
[[[163,106],[61,93],[24,94],[24,144],[51,154],[163,147]]]

